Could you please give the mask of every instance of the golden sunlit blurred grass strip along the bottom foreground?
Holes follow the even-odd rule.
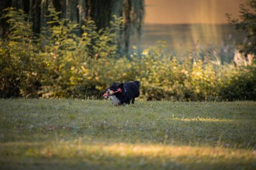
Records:
[[[152,144],[0,145],[0,169],[254,169],[246,150]]]

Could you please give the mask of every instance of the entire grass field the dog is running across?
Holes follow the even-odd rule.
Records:
[[[256,169],[256,102],[0,100],[0,169]]]

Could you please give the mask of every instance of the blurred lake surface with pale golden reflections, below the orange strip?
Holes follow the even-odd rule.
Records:
[[[131,46],[145,49],[156,46],[158,40],[163,40],[167,49],[184,54],[195,49],[195,46],[202,50],[209,46],[222,48],[244,39],[245,34],[238,33],[229,24],[145,24],[140,40],[136,35],[131,37]]]

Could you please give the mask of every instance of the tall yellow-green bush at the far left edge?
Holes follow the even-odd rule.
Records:
[[[7,8],[6,22],[9,25],[5,39],[0,43],[0,96],[34,96],[40,87],[37,72],[38,56],[33,43],[31,23],[25,21],[27,15],[14,8]]]

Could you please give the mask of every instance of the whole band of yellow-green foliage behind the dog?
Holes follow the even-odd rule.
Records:
[[[223,64],[213,50],[204,60],[193,52],[179,61],[160,44],[120,57],[122,18],[101,30],[87,21],[79,37],[78,24],[50,8],[47,27],[36,38],[24,12],[5,12],[10,27],[0,44],[1,97],[100,98],[114,81],[140,80],[146,100],[256,100],[253,56],[248,61],[236,52],[234,63]]]

